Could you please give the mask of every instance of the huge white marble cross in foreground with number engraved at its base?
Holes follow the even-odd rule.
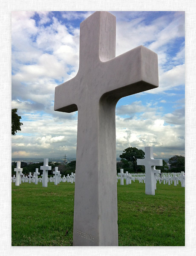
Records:
[[[157,54],[139,46],[115,57],[115,16],[80,24],[77,75],[55,88],[55,111],[78,110],[74,246],[117,246],[115,106],[158,87]]]

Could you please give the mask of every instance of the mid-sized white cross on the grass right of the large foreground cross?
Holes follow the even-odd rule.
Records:
[[[145,193],[155,195],[155,174],[159,173],[159,170],[155,170],[154,166],[163,165],[161,159],[154,159],[153,147],[145,147],[145,158],[138,159],[137,165],[145,166]]]

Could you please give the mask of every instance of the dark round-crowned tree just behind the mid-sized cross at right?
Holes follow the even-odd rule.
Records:
[[[137,165],[137,159],[144,159],[144,151],[136,147],[127,147],[120,155],[121,161],[126,159],[132,166],[134,172],[144,171],[144,167]],[[125,163],[125,162],[124,162]]]

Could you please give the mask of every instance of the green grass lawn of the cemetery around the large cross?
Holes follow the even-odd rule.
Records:
[[[119,246],[184,246],[184,188],[118,180]],[[74,183],[12,183],[12,246],[72,246]]]

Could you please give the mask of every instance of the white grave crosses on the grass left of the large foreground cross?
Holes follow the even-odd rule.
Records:
[[[22,173],[23,168],[20,168],[20,162],[17,162],[17,168],[14,168],[14,171],[16,172],[16,177],[14,175],[14,177],[12,178],[12,182],[15,182],[16,186],[19,186],[21,184],[21,182],[29,182],[31,183],[34,182],[35,185],[37,185],[37,182],[42,182],[42,186],[43,187],[47,187],[48,186],[48,182],[55,182],[55,185],[58,185],[61,181],[61,174],[60,171],[58,171],[58,167],[55,167],[55,171],[53,171],[53,174],[55,174],[55,176],[51,179],[48,178],[48,171],[51,170],[51,166],[48,165],[48,158],[43,160],[43,166],[40,166],[40,170],[43,170],[43,174],[41,175],[42,178],[38,178],[38,175],[40,174],[38,172],[38,168],[35,169],[34,175],[31,175],[31,172],[29,172],[28,177],[24,177],[24,174]],[[23,177],[23,178],[22,178]],[[62,179],[63,182],[75,182],[75,174],[71,173],[71,175],[69,176],[69,174],[67,175],[67,177],[65,177],[65,175],[63,176]]]

